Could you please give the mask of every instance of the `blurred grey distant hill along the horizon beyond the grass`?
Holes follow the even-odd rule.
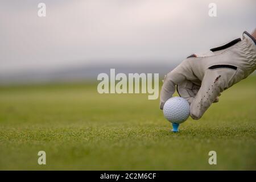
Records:
[[[80,66],[55,69],[51,71],[23,71],[16,73],[0,73],[0,85],[30,84],[45,82],[96,81],[100,73],[109,75],[110,68],[117,73],[159,73],[160,78],[170,72],[173,65],[106,65]]]

